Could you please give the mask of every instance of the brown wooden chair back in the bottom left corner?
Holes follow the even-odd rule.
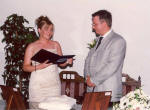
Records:
[[[2,97],[6,100],[6,110],[25,110],[24,100],[18,89],[9,86],[0,86]]]

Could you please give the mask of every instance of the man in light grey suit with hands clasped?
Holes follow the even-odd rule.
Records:
[[[85,60],[84,75],[87,91],[112,91],[111,102],[122,97],[122,67],[126,41],[112,29],[112,16],[107,10],[92,14],[92,28],[99,34],[97,44]]]

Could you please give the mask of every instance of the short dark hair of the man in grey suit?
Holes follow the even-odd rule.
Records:
[[[112,26],[112,15],[107,10],[99,10],[92,14],[92,17],[99,16],[100,20],[105,20],[109,27]]]

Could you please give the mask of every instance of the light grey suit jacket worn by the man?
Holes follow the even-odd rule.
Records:
[[[96,44],[97,45],[97,44]],[[90,50],[85,60],[84,75],[90,76],[96,85],[95,92],[112,91],[112,102],[122,96],[122,67],[126,52],[126,41],[111,31],[100,46]],[[92,87],[87,91],[92,92]]]

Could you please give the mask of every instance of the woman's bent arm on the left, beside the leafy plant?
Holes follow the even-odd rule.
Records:
[[[50,64],[47,64],[48,61],[45,61],[44,63],[41,63],[39,65],[36,65],[36,68],[35,68],[35,66],[31,65],[31,58],[32,58],[33,53],[34,53],[33,47],[34,46],[32,44],[30,44],[25,51],[23,70],[26,72],[32,72],[35,70],[43,69],[43,68],[50,65]]]

